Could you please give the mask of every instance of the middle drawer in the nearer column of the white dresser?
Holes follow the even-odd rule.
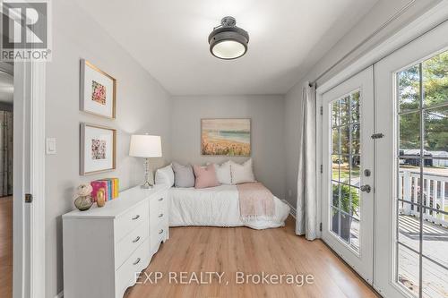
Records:
[[[115,268],[119,268],[125,260],[144,242],[150,233],[150,226],[141,223],[129,234],[116,243],[115,246]]]

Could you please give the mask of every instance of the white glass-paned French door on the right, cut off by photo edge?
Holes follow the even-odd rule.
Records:
[[[448,23],[375,65],[375,288],[448,297]]]

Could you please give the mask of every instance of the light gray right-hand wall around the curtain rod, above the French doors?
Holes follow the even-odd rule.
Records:
[[[401,7],[409,4],[409,0],[379,0],[374,7],[366,13],[358,24],[350,30],[332,49],[315,64],[297,84],[289,90],[285,96],[285,148],[286,148],[286,189],[285,193],[291,193],[287,200],[296,206],[297,200],[297,161],[298,161],[298,127],[301,123],[300,103],[302,100],[302,88],[307,81],[314,81],[321,73],[339,61],[350,50],[365,38],[378,30],[384,22],[388,21],[394,14],[401,10]],[[360,55],[368,52],[372,47],[390,37],[403,26],[414,20],[418,15],[425,13],[430,7],[439,3],[440,0],[420,0],[416,1],[409,10],[402,13],[396,21],[392,21],[386,28],[381,30],[375,38],[370,39],[363,47],[359,47],[356,52],[349,55],[331,72],[328,72],[322,79],[317,81],[317,85],[328,81],[335,73],[340,72],[344,67],[353,63]]]

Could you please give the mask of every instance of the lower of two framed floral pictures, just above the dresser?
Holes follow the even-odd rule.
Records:
[[[81,123],[80,175],[116,169],[116,130]]]

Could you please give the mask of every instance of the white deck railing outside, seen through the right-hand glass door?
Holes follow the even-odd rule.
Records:
[[[421,185],[421,187],[420,187]],[[423,183],[420,184],[420,173],[412,170],[400,170],[399,192],[402,200],[400,211],[405,215],[420,216],[420,209],[417,205],[420,192],[423,190],[423,218],[426,221],[448,227],[448,176],[437,175],[435,173],[423,173]]]

